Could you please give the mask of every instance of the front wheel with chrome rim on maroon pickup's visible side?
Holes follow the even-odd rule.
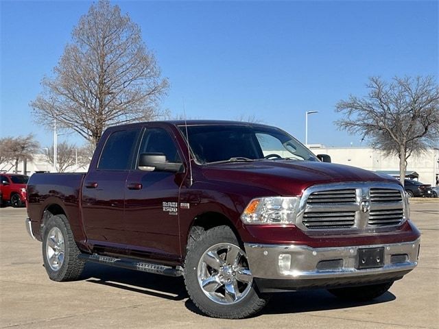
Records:
[[[228,226],[204,231],[191,242],[184,273],[189,297],[210,317],[242,319],[267,304],[248,269],[246,253]]]

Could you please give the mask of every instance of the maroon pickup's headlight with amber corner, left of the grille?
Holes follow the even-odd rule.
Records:
[[[252,199],[241,215],[246,224],[294,224],[300,197]]]

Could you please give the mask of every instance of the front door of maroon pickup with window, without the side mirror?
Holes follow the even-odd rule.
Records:
[[[174,163],[182,159],[174,135],[160,125],[145,127],[136,159],[142,153],[165,154]],[[128,175],[125,222],[132,256],[169,260],[180,256],[178,191],[184,177],[184,172],[137,168]]]

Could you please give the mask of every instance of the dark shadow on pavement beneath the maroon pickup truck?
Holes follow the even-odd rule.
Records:
[[[96,263],[86,263],[83,280],[94,284],[124,289],[134,293],[142,293],[167,300],[186,300],[185,306],[193,313],[203,315],[188,298],[185,282],[182,277],[171,278],[155,274],[119,269]],[[381,297],[369,302],[349,302],[334,297],[324,289],[313,291],[294,291],[273,293],[268,306],[260,314],[306,313],[318,310],[336,310],[355,308],[358,306],[381,304],[395,300],[396,296],[389,291]]]

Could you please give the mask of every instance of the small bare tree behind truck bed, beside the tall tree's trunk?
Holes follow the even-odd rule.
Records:
[[[57,171],[64,173],[69,169],[86,166],[91,160],[88,147],[77,147],[67,142],[58,143],[56,147]],[[49,164],[54,165],[54,146],[43,148],[43,154]]]

